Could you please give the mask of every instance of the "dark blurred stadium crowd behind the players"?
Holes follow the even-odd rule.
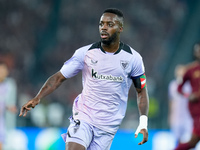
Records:
[[[0,0],[0,60],[7,62],[17,82],[18,108],[35,96],[77,48],[100,40],[98,23],[108,7],[124,12],[121,39],[143,56],[150,96],[149,128],[167,129],[167,86],[173,69],[176,63],[191,60],[192,44],[200,39],[199,16],[195,15],[200,14],[198,0]],[[26,118],[18,118],[17,126],[67,127],[73,99],[81,89],[79,74]],[[121,128],[137,125],[132,87]]]

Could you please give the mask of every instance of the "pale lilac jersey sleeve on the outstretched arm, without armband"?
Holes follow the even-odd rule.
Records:
[[[83,69],[84,54],[84,50],[80,48],[63,64],[60,72],[65,78],[71,78]]]

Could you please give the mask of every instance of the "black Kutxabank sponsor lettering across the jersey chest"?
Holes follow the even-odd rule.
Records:
[[[92,78],[99,79],[99,80],[109,80],[114,82],[123,82],[123,77],[116,77],[112,75],[102,75],[98,74],[94,69],[92,69]]]

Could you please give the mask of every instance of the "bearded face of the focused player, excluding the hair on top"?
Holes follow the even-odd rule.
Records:
[[[104,13],[101,16],[99,22],[99,32],[101,42],[106,45],[110,45],[112,42],[119,41],[120,32],[123,31],[123,27],[120,25],[117,15],[112,13]]]

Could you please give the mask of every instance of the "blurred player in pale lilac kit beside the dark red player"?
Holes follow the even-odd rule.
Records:
[[[189,82],[183,86],[184,95],[177,91],[182,82],[186,67],[177,65],[175,79],[168,87],[169,94],[169,125],[178,143],[188,142],[192,134],[192,118],[188,109],[188,96],[191,93]]]

